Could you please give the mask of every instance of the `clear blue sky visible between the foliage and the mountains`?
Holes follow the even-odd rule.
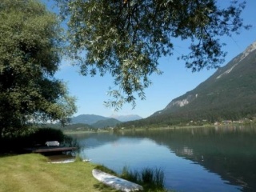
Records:
[[[222,3],[230,2],[227,0],[219,0],[218,2],[220,1]],[[240,1],[242,2],[242,0]],[[227,44],[223,47],[223,50],[228,52],[226,62],[223,65],[226,65],[227,62],[256,41],[256,1],[247,0],[246,2],[246,9],[242,12],[242,18],[245,24],[252,25],[252,28],[250,30],[242,30],[241,34],[234,34],[232,38],[221,38],[222,42]],[[50,2],[47,3],[50,4]],[[193,90],[216,71],[202,70],[192,73],[186,69],[184,62],[178,61],[177,57],[186,53],[188,50],[187,45],[186,42],[176,41],[174,55],[159,60],[158,68],[163,71],[163,74],[150,76],[153,84],[145,90],[146,100],[137,99],[137,105],[134,110],[130,104],[126,104],[118,112],[104,106],[103,102],[110,99],[106,93],[109,87],[114,86],[113,78],[110,75],[85,77],[78,74],[77,67],[70,66],[70,62],[63,60],[60,69],[55,74],[55,78],[66,82],[70,95],[77,98],[78,112],[74,116],[78,114],[97,114],[110,117],[111,115],[138,114],[142,118],[146,118],[154,114],[154,112],[165,108],[172,99]]]

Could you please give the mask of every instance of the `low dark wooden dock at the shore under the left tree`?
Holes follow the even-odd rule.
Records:
[[[42,146],[42,147],[26,148],[24,150],[26,150],[30,153],[46,154],[46,153],[69,152],[69,151],[77,150],[77,147],[74,147],[74,146]]]

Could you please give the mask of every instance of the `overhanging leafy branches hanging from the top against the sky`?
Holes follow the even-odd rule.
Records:
[[[68,54],[81,73],[110,73],[119,90],[107,106],[135,105],[134,93],[145,98],[150,74],[161,74],[158,58],[171,55],[173,38],[190,39],[190,53],[178,59],[192,71],[218,67],[225,52],[220,36],[231,36],[244,26],[246,2],[226,9],[214,0],[55,0],[67,22]]]

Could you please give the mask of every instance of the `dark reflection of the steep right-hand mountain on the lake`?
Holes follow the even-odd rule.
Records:
[[[127,133],[147,137],[165,145],[182,158],[190,159],[219,174],[242,191],[256,191],[256,129],[196,128]]]

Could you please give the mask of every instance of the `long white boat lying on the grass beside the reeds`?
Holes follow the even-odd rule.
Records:
[[[129,182],[123,178],[118,178],[101,170],[93,170],[92,174],[94,175],[94,178],[96,178],[99,182],[102,182],[107,186],[111,186],[116,190],[121,190],[124,192],[143,190],[142,186],[134,182]]]

